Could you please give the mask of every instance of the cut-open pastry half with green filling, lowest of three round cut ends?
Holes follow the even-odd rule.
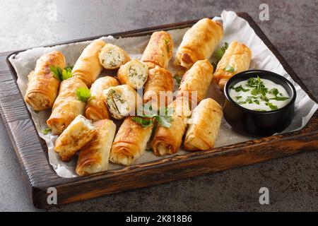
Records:
[[[107,88],[102,92],[102,98],[114,119],[123,119],[136,112],[137,104],[141,102],[141,97],[129,85]]]

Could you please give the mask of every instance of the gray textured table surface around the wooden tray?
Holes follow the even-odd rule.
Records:
[[[88,3],[89,2],[89,3]],[[264,1],[262,1],[264,2]],[[318,1],[7,1],[0,6],[0,52],[246,11],[318,97]],[[35,209],[4,124],[0,122],[0,210]],[[270,204],[259,204],[259,188]],[[230,169],[52,210],[318,210],[318,152]]]

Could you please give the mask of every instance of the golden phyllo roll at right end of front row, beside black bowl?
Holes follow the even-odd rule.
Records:
[[[214,147],[222,121],[222,107],[211,98],[202,100],[192,112],[184,138],[186,150],[209,150]]]

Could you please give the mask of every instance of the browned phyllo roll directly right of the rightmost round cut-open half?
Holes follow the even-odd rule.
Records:
[[[152,105],[166,107],[173,100],[173,78],[166,69],[155,66],[149,70],[145,84],[143,103],[152,102]],[[161,93],[161,95],[160,95]],[[161,97],[161,98],[160,98]]]

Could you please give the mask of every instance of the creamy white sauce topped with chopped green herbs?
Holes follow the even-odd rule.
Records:
[[[241,107],[259,112],[280,109],[290,102],[290,97],[282,85],[259,77],[231,85],[229,94]]]

